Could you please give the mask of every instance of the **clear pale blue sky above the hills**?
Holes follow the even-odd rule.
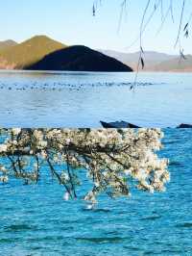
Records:
[[[67,45],[84,44],[94,49],[111,49],[121,52],[139,50],[139,28],[142,14],[148,0],[128,0],[119,27],[121,3],[123,0],[102,0],[96,15],[92,15],[95,0],[6,0],[0,2],[0,40],[24,41],[36,35],[46,35]],[[148,20],[159,0],[151,0],[146,13]],[[162,13],[165,15],[171,0],[164,0],[163,8],[153,16],[142,39],[144,50],[169,54],[179,52],[179,44],[174,47],[179,25],[182,0],[174,3],[174,23],[169,14],[160,33],[157,33]],[[99,1],[98,1],[99,2]],[[192,0],[186,0],[183,26],[192,11]],[[181,37],[184,53],[192,54],[192,38]],[[136,40],[137,39],[137,40]]]

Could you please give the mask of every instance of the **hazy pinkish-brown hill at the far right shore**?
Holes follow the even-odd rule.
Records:
[[[192,72],[192,56],[186,55],[185,60],[180,57],[154,66],[154,71]]]

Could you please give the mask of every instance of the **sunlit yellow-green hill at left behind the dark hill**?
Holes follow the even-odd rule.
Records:
[[[36,64],[47,54],[66,47],[64,44],[46,36],[36,36],[12,47],[0,50],[0,67],[10,66],[14,69],[25,69]]]

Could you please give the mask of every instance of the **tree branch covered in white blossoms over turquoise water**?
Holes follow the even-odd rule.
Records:
[[[64,198],[76,198],[82,184],[79,170],[84,169],[92,185],[84,199],[95,204],[104,192],[112,198],[129,196],[132,184],[161,192],[169,181],[168,161],[156,155],[162,147],[159,129],[18,128],[0,133],[0,182],[13,176],[37,183],[46,166],[64,187]]]

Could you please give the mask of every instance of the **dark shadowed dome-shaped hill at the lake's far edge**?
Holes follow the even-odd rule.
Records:
[[[83,45],[75,45],[58,50],[36,64],[28,67],[31,70],[68,70],[68,71],[114,71],[131,72],[126,64],[108,57]]]

